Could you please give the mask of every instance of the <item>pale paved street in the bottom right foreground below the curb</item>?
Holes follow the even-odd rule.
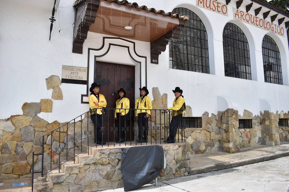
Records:
[[[105,190],[121,192],[123,188]],[[146,185],[141,192],[289,192],[289,156]]]

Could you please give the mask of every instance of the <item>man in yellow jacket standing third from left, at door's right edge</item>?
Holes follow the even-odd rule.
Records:
[[[153,109],[151,98],[148,97],[148,89],[146,87],[139,88],[140,97],[135,101],[135,116],[138,120],[138,143],[148,141],[148,117]]]

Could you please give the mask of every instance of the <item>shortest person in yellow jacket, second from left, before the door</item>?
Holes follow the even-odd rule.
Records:
[[[120,140],[116,143],[123,143],[126,140],[124,128],[129,123],[126,122],[126,115],[129,113],[129,98],[126,98],[126,91],[123,88],[117,90],[117,93],[119,99],[116,102],[114,118],[117,120],[116,125],[119,128]]]

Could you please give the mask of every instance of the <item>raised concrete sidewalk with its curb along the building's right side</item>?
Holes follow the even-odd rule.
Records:
[[[213,152],[191,155],[190,174],[207,173],[289,156],[289,143],[279,146],[256,146],[238,153]]]

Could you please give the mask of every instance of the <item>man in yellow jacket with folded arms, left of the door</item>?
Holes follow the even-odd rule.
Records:
[[[106,100],[104,95],[99,93],[99,87],[97,83],[92,83],[89,91],[91,92],[88,101],[90,108],[90,119],[94,124],[94,142],[98,145],[105,145],[103,139],[102,127],[102,108],[106,107]]]

